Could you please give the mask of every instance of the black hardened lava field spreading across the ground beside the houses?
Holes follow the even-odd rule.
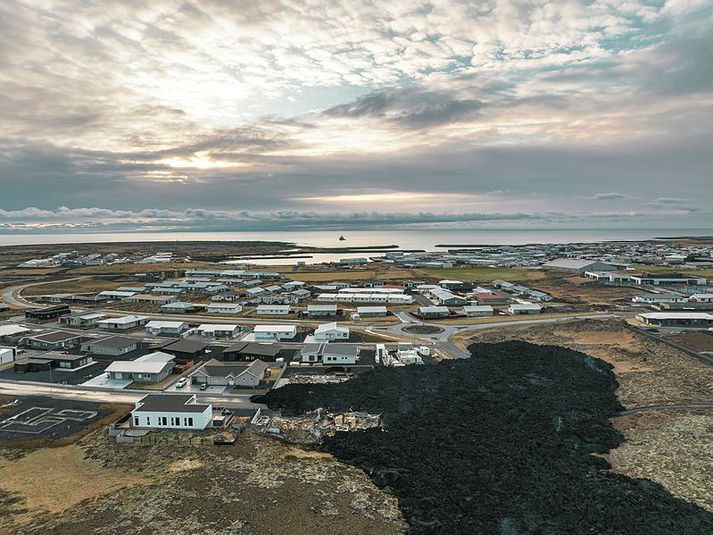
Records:
[[[286,414],[382,413],[385,430],[337,433],[322,448],[396,495],[411,533],[713,534],[713,514],[593,455],[623,441],[609,422],[622,409],[609,364],[525,342],[470,350],[260,401]]]

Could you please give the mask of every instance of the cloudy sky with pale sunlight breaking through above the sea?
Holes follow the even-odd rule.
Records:
[[[710,0],[0,3],[0,233],[713,227]]]

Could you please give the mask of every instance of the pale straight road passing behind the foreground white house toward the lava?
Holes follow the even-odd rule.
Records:
[[[49,385],[44,383],[0,381],[0,394],[7,396],[49,396],[59,399],[75,399],[92,401],[95,403],[126,403],[133,405],[137,400],[149,394],[149,391],[141,390],[109,390],[90,389],[81,386],[70,385]],[[227,406],[232,408],[258,408],[260,405],[250,401],[251,394],[236,395],[198,395],[200,401],[213,403],[214,405]]]

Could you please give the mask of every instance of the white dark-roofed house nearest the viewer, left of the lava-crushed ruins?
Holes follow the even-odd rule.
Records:
[[[195,394],[148,394],[131,411],[131,425],[148,429],[201,430],[211,425],[213,406]]]

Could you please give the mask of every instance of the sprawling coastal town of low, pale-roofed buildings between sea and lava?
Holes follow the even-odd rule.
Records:
[[[481,335],[550,327],[579,336],[599,325],[587,332],[614,339],[626,331],[713,366],[705,240],[389,250],[282,265],[198,262],[155,247],[3,260],[0,442],[74,440],[99,426],[119,448],[231,445],[246,432],[314,446],[379,428],[381,415],[294,416],[263,397],[469,359]],[[705,396],[694,401],[708,407]]]

